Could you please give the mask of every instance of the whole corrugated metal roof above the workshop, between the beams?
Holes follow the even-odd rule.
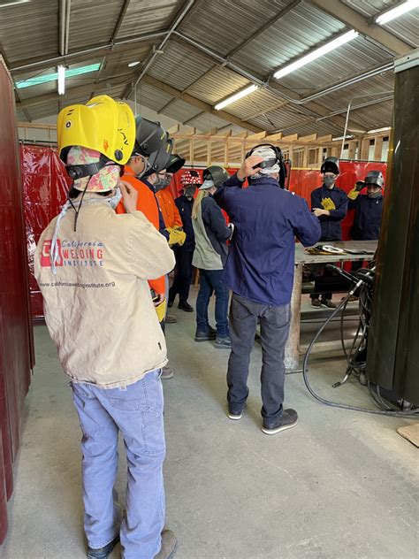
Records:
[[[394,5],[390,0],[343,1],[366,18]],[[11,66],[33,62],[34,58],[57,57],[58,5],[57,0],[36,0],[0,8],[0,42],[4,45]],[[124,5],[124,0],[72,0],[70,50],[88,50],[108,44]],[[185,5],[185,0],[131,0],[118,31],[117,43],[142,34],[167,30]],[[291,5],[293,8],[283,14],[282,11]],[[282,17],[278,19],[280,13]],[[269,22],[270,27],[260,33],[261,28]],[[392,33],[399,34],[408,42],[417,42],[417,27],[417,10],[386,26]],[[232,54],[232,63],[240,66],[243,72],[251,73],[259,79],[271,75],[280,65],[301,56],[345,29],[338,19],[327,15],[308,0],[301,0],[298,5],[291,4],[290,0],[196,0],[179,26],[182,33],[224,57],[228,57],[228,53],[253,37],[241,50]],[[156,44],[161,40],[161,37],[156,38]],[[84,57],[77,58],[77,64],[87,65],[95,61],[104,61],[103,68],[100,73],[68,79],[67,95],[60,98],[59,103],[77,98],[80,98],[80,103],[85,103],[93,92],[122,95],[126,85],[133,83],[141,72],[141,65],[129,68],[128,63],[133,60],[144,63],[148,60],[150,52],[150,42],[117,46],[115,50],[101,52],[100,56],[87,52]],[[358,37],[299,71],[287,75],[279,84],[295,94],[307,96],[317,89],[390,60],[388,52],[380,48],[376,42]],[[74,67],[72,59],[67,62]],[[53,66],[42,69],[41,72],[52,73],[55,69]],[[40,70],[34,67],[27,72],[13,73],[13,77],[15,80],[21,80],[37,73],[40,73]],[[211,57],[208,52],[202,53],[196,47],[183,42],[178,35],[172,35],[171,41],[164,46],[164,54],[156,57],[148,73],[173,88],[187,88],[190,96],[212,106],[247,86],[251,79],[240,74],[240,71],[232,70],[228,65],[220,65],[220,61]],[[100,80],[100,83],[95,83],[96,80]],[[385,73],[319,97],[316,103],[329,112],[345,110],[348,101],[355,95],[368,94],[360,101],[377,98],[392,88],[392,81],[392,73]],[[87,87],[82,88],[80,93],[79,86],[84,85]],[[72,92],[72,88],[78,90]],[[35,119],[42,118],[40,114],[47,116],[57,112],[58,99],[51,98],[51,94],[55,94],[56,91],[57,84],[54,81],[21,89],[19,95],[24,100],[37,97],[37,104],[27,109],[31,118]],[[45,103],[43,96],[46,96]],[[42,104],[39,103],[39,97]],[[217,115],[202,114],[202,110],[194,106],[194,103],[171,100],[170,94],[158,88],[145,83],[138,84],[139,107],[145,106],[155,111],[164,109],[164,114],[182,122],[192,119],[191,124],[199,130],[214,127],[228,130],[228,127],[231,127],[230,123],[225,119],[219,119]],[[280,103],[281,99],[270,90],[260,89],[227,106],[225,112],[239,119],[247,119],[249,124],[270,132],[283,129],[291,134],[293,130],[299,133],[304,130],[301,134],[309,134],[307,130],[310,126],[311,130],[319,129],[324,134],[324,129],[328,127],[340,131],[339,126],[333,123],[326,124],[328,121],[316,122],[315,119],[311,119],[316,116],[313,112],[316,105],[311,105],[311,108],[310,105],[295,106],[293,103],[278,106]],[[386,126],[390,123],[391,106],[391,102],[374,104],[368,109],[354,111],[351,113],[351,119],[354,119],[354,124],[362,119],[365,126]],[[19,114],[22,115],[22,111],[19,110]],[[373,122],[374,120],[377,122]],[[240,126],[239,129],[241,130]]]

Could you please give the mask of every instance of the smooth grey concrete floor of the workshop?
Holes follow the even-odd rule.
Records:
[[[228,351],[196,344],[194,315],[173,314],[179,322],[167,327],[175,378],[164,382],[164,474],[167,525],[179,539],[179,559],[419,556],[419,453],[396,433],[413,421],[324,407],[294,374],[287,377],[286,404],[298,410],[300,423],[268,437],[260,430],[256,343],[248,408],[232,422],[225,416]],[[37,366],[0,556],[78,559],[86,556],[80,429],[44,326],[35,327],[35,341]],[[338,356],[324,350],[313,356],[315,387],[368,405],[357,381],[331,389],[344,371]],[[125,483],[121,459],[121,500]],[[112,557],[119,556],[118,547]]]

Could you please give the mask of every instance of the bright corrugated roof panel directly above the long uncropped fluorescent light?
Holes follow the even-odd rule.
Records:
[[[232,59],[266,75],[345,26],[310,4],[299,4]]]

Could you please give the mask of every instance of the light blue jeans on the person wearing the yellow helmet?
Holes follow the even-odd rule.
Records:
[[[103,548],[120,534],[124,559],[153,559],[164,527],[165,456],[163,389],[151,371],[126,389],[72,383],[80,417],[84,528],[91,548]],[[118,433],[128,466],[126,517],[120,520]]]

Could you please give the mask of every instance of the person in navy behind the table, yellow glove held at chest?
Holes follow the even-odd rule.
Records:
[[[311,210],[320,219],[322,237],[320,241],[341,241],[342,220],[347,215],[347,193],[336,187],[335,182],[339,175],[339,161],[336,157],[326,157],[320,168],[323,173],[323,185],[311,193]],[[314,293],[310,295],[313,307],[324,304],[330,309],[336,305],[331,301],[331,292],[327,291],[331,272],[324,266],[317,267]]]

